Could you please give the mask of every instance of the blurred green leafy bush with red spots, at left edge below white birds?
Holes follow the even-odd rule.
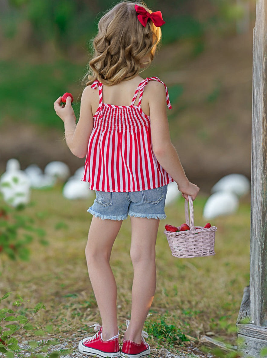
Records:
[[[0,205],[0,253],[5,253],[11,260],[29,260],[29,244],[37,236],[42,245],[45,231],[34,226],[34,220],[20,213],[20,209]]]

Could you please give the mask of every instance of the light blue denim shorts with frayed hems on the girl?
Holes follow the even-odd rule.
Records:
[[[127,216],[166,219],[167,185],[140,192],[98,192],[88,212],[101,219],[124,220]]]

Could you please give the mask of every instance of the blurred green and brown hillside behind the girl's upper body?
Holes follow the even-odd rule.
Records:
[[[141,74],[166,83],[171,137],[189,180],[203,192],[223,175],[251,172],[253,0],[146,2],[161,10],[162,43]],[[54,160],[84,164],[64,141],[53,102],[74,96],[109,0],[0,0],[0,174]]]

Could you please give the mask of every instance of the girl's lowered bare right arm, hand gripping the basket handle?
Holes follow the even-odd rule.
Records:
[[[151,84],[148,96],[153,151],[157,161],[177,183],[183,197],[188,200],[188,195],[191,195],[194,200],[199,188],[190,183],[186,177],[178,153],[170,139],[165,87],[159,82],[151,82]]]

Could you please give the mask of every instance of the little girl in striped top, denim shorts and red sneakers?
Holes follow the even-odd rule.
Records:
[[[155,294],[155,244],[159,221],[166,218],[167,184],[175,181],[186,200],[199,192],[170,140],[167,87],[157,77],[139,75],[154,58],[164,23],[160,11],[152,13],[144,4],[118,3],[99,21],[77,125],[71,97],[65,106],[60,106],[61,97],[54,103],[69,149],[79,158],[86,156],[82,180],[96,191],[88,209],[93,218],[86,259],[102,326],[95,324],[98,332],[79,343],[87,355],[139,358],[150,353],[142,328]],[[134,276],[131,320],[120,350],[110,256],[127,215]]]

